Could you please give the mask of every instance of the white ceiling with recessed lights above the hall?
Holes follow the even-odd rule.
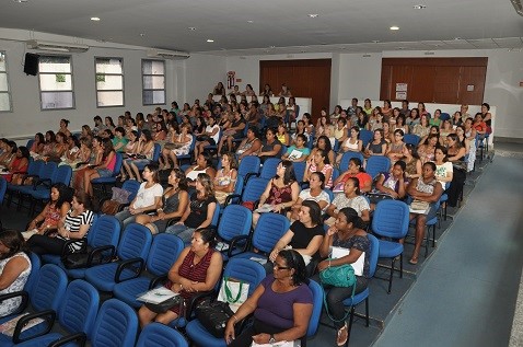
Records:
[[[27,38],[34,31],[223,56],[523,49],[523,16],[510,0],[3,0],[1,8],[0,26],[27,30]]]

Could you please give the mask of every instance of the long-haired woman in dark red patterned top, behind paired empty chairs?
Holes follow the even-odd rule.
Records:
[[[300,186],[294,175],[292,162],[283,160],[276,167],[276,176],[269,181],[264,194],[259,197],[259,206],[270,206],[270,211],[279,213],[298,200]],[[259,219],[259,212],[253,213],[253,228]]]

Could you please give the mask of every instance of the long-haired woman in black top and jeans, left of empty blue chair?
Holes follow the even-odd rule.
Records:
[[[184,242],[190,242],[196,229],[208,228],[211,224],[216,208],[212,180],[208,174],[199,173],[196,178],[196,192],[190,195],[189,207],[179,221],[168,227],[165,232],[176,234]]]

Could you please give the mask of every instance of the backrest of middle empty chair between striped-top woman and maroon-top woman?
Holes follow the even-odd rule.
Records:
[[[151,243],[152,234],[149,228],[138,223],[130,223],[124,230],[120,243],[118,244],[118,257],[121,261],[132,258],[147,259]]]

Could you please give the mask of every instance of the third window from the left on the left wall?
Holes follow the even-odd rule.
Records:
[[[124,59],[95,58],[97,107],[124,106]]]

